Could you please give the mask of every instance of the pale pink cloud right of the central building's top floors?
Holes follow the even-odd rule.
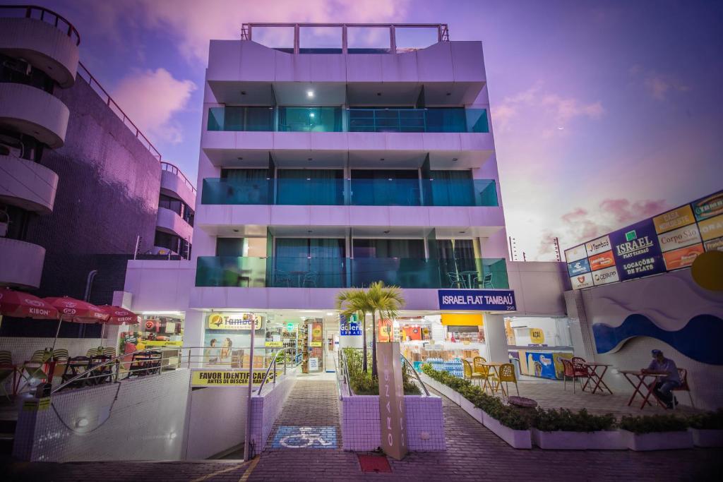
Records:
[[[544,116],[540,116],[540,108],[544,108]],[[529,89],[509,95],[499,105],[493,106],[492,121],[502,134],[530,129],[546,137],[560,127],[564,129],[573,119],[599,119],[604,113],[605,109],[599,100],[586,103],[581,99],[565,97],[543,90],[542,83],[537,82]],[[555,129],[551,129],[551,125]]]

